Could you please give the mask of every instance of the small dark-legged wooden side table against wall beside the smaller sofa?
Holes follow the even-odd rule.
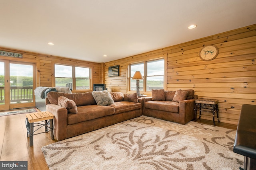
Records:
[[[195,111],[195,121],[197,116],[197,111],[199,111],[199,119],[201,118],[201,111],[211,112],[213,117],[213,124],[215,126],[215,112],[217,115],[218,122],[219,120],[219,109],[218,109],[218,100],[215,99],[197,99],[195,100],[196,107],[194,109]],[[202,110],[204,109],[204,110]]]

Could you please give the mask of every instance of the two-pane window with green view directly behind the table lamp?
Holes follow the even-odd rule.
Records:
[[[132,80],[136,71],[140,71],[144,77],[144,80],[140,80],[140,91],[164,89],[164,59],[130,64],[130,90],[136,90],[136,80]]]

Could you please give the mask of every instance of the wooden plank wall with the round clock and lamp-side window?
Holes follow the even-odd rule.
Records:
[[[218,56],[202,61],[200,50],[216,45]],[[219,117],[238,124],[242,104],[256,105],[256,24],[202,39],[105,63],[105,83],[112,92],[127,92],[128,64],[168,53],[167,89],[193,89],[198,98],[219,100]],[[120,65],[120,76],[108,77],[108,67]],[[201,119],[212,120],[203,112]]]

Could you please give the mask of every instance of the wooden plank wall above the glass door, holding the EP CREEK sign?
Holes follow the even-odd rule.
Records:
[[[13,57],[3,57],[0,56],[0,59],[9,60],[9,61],[18,61],[18,62],[28,62],[28,63],[37,63],[36,71],[37,71],[37,84],[36,86],[45,86],[45,87],[54,87],[54,64],[74,64],[76,66],[85,66],[92,68],[92,84],[100,83],[100,64],[93,63],[88,61],[81,61],[76,59],[68,59],[64,57],[52,56],[52,55],[44,55],[38,53],[31,53],[28,51],[20,51],[15,49],[8,49],[4,47],[0,47],[1,51],[10,51],[14,53],[22,53],[23,58],[13,58]],[[102,80],[101,80],[102,81]],[[86,90],[85,90],[86,91]],[[85,92],[83,90],[72,90],[72,92]]]

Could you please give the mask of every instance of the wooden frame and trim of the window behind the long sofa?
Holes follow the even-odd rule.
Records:
[[[82,92],[82,91],[92,91],[92,67],[89,66],[81,66],[78,64],[63,64],[63,63],[53,63],[53,74],[54,76],[52,76],[52,86],[56,86],[56,76],[55,76],[55,65],[62,65],[62,66],[72,66],[72,92]],[[82,67],[82,68],[89,68],[89,78],[88,80],[89,82],[89,89],[78,89],[76,90],[76,67]]]

